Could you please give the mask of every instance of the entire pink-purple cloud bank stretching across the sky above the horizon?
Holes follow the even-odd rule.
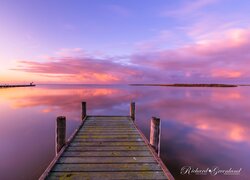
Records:
[[[20,61],[15,70],[71,83],[242,83],[250,80],[249,39],[249,29],[231,29],[224,39],[143,51],[128,56],[129,60],[64,49],[43,62]]]

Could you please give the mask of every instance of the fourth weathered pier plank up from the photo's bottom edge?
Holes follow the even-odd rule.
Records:
[[[105,156],[105,157],[119,157],[119,156],[152,156],[152,154],[146,150],[146,151],[65,151],[62,156],[68,157],[68,156],[81,156],[81,157],[100,157],[100,156]]]

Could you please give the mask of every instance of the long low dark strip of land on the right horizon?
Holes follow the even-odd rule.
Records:
[[[238,87],[234,84],[129,84],[130,86],[172,86],[172,87]]]

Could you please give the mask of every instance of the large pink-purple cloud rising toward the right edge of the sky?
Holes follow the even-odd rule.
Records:
[[[132,62],[156,68],[176,80],[238,80],[249,79],[250,31],[227,31],[219,41],[198,43],[178,49],[135,54]]]

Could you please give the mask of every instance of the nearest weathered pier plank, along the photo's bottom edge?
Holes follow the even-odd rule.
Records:
[[[52,172],[48,179],[167,179],[162,171],[145,171],[145,172]]]

